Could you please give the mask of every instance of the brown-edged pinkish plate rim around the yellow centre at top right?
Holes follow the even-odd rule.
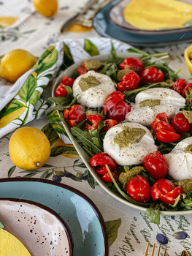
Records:
[[[132,1],[132,0],[129,0],[129,2]],[[134,28],[134,26],[131,26],[131,24],[128,23],[128,27],[126,26],[120,26],[119,23],[117,23],[115,21],[115,19],[113,19],[111,16],[111,12],[114,11],[115,8],[120,8],[119,5],[121,4],[124,4],[124,2],[126,2],[126,0],[123,0],[123,1],[118,1],[117,4],[115,4],[112,9],[110,10],[109,12],[109,20],[111,23],[113,23],[115,26],[118,26],[120,29],[123,29],[125,31],[128,31],[128,32],[131,32],[133,34],[143,34],[143,35],[147,35],[147,34],[150,34],[150,35],[161,35],[161,34],[177,34],[177,33],[180,33],[180,32],[187,32],[187,31],[191,31],[192,30],[192,26],[188,26],[188,27],[183,27],[183,28],[177,28],[177,29],[161,29],[161,30],[146,30],[146,29],[137,29],[137,28]],[[192,6],[192,4],[191,4]],[[122,11],[122,10],[121,10]],[[123,18],[124,20],[124,18]],[[124,20],[125,21],[125,20]],[[126,21],[125,21],[126,22]]]

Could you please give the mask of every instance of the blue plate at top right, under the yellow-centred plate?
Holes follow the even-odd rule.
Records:
[[[131,45],[141,46],[163,46],[182,42],[192,42],[192,31],[180,32],[177,34],[144,35],[134,34],[110,22],[109,13],[112,7],[115,7],[120,0],[111,1],[103,9],[97,12],[93,18],[93,28],[102,37],[112,37]]]

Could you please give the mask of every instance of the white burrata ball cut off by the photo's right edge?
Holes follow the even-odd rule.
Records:
[[[168,174],[177,181],[192,178],[192,152],[184,152],[189,145],[192,145],[192,137],[181,140],[169,154],[164,154]]]

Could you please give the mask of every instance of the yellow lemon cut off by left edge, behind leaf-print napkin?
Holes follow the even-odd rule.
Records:
[[[26,50],[16,49],[1,59],[0,77],[15,82],[37,62],[37,57]]]

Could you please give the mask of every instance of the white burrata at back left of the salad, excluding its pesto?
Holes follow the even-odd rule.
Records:
[[[88,78],[88,76],[93,76],[99,80],[99,85],[89,88],[86,91],[82,91],[79,82],[80,78]],[[100,108],[104,105],[107,96],[113,91],[116,91],[115,83],[108,75],[100,74],[93,70],[80,75],[74,80],[73,84],[73,97],[77,97],[77,102],[88,108]]]

